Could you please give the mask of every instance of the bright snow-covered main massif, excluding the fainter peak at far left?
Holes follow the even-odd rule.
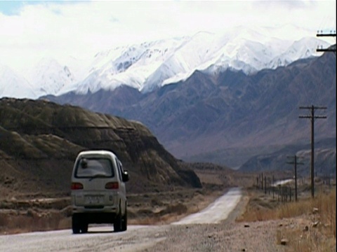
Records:
[[[118,48],[113,50],[114,53],[106,53],[106,57],[100,54],[95,65],[104,67],[95,67],[98,69],[93,73],[95,77],[88,78],[91,84],[81,83],[85,88],[77,87],[75,91],[96,92],[102,88],[113,90],[119,85],[128,85],[141,92],[151,92],[163,85],[185,80],[196,70],[210,69],[210,66],[214,71],[230,67],[250,74],[312,57],[317,44],[326,45],[317,38],[303,38],[293,43],[252,29],[239,31],[233,29],[220,35],[199,32],[192,37]],[[99,64],[100,61],[108,63]]]

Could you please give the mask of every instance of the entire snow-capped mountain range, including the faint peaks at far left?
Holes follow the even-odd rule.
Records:
[[[70,66],[44,59],[26,78],[37,97],[114,90],[120,85],[151,92],[185,80],[196,70],[213,72],[230,68],[251,74],[315,56],[318,46],[329,46],[313,36],[290,41],[271,34],[276,32],[236,27],[225,34],[199,32],[194,36],[124,45],[98,52],[78,78]],[[6,95],[18,97],[15,90]],[[27,91],[25,96],[36,98],[30,95]],[[0,92],[0,97],[3,96]]]

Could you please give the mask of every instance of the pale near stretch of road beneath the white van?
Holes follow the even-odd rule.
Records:
[[[164,239],[165,226],[128,226],[126,232],[113,232],[112,226],[89,228],[84,235],[71,230],[32,232],[0,237],[0,251],[139,251]]]

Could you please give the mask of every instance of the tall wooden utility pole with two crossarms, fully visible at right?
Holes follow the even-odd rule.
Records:
[[[300,109],[310,109],[311,113],[309,116],[300,116],[300,118],[309,118],[311,120],[311,197],[315,197],[315,172],[314,172],[314,162],[315,162],[315,119],[326,118],[326,116],[315,116],[316,109],[326,109],[326,107],[318,106],[300,106]]]

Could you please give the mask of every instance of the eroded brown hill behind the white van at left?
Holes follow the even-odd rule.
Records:
[[[0,99],[0,190],[69,193],[74,159],[84,149],[117,153],[131,175],[128,190],[201,187],[147,128],[136,121],[43,100]]]

